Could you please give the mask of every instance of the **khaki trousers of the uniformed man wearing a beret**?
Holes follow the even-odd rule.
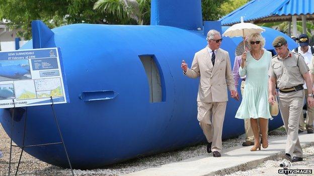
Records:
[[[304,103],[304,90],[290,93],[279,92],[278,99],[281,118],[288,134],[285,152],[291,156],[294,153],[297,157],[303,157],[298,138],[298,126]]]

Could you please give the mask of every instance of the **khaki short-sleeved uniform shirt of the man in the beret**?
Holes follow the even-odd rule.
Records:
[[[308,70],[304,58],[289,51],[288,56],[284,59],[279,58],[278,55],[272,58],[268,75],[276,78],[279,89],[285,89],[304,84],[302,75]]]

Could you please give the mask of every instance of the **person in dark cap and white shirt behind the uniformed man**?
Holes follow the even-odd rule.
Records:
[[[309,39],[306,34],[301,34],[299,36],[299,47],[292,50],[292,52],[298,53],[303,56],[306,65],[308,66],[311,63],[312,55],[314,54],[314,48],[309,46]],[[307,99],[307,87],[304,83],[303,85],[305,91],[305,100]],[[304,124],[303,113],[300,114],[299,120],[299,130],[298,132],[303,132],[304,127],[308,134],[313,133],[313,121],[314,121],[314,107],[309,107],[307,102],[306,103],[306,123]]]

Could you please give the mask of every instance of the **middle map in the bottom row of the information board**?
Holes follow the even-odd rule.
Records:
[[[14,81],[14,87],[17,100],[37,98],[33,80]]]

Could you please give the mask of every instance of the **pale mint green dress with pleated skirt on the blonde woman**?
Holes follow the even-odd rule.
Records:
[[[236,118],[272,119],[268,103],[268,68],[271,58],[271,52],[267,50],[264,50],[264,54],[259,60],[255,60],[250,52],[247,53],[246,66],[239,69],[240,76],[246,75],[247,77]]]

